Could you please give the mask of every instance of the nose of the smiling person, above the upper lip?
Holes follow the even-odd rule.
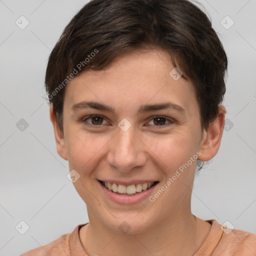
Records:
[[[146,162],[145,148],[132,126],[126,131],[117,127],[117,132],[110,141],[107,163],[122,172],[141,167]]]

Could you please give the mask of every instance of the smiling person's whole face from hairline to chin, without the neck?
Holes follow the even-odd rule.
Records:
[[[139,233],[190,210],[207,134],[192,84],[174,80],[173,68],[166,51],[136,50],[68,83],[57,149],[79,176],[90,221]],[[121,193],[146,190],[116,194],[101,181]]]

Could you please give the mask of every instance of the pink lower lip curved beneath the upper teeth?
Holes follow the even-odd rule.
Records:
[[[147,190],[142,190],[141,192],[134,194],[134,195],[122,195],[122,194],[116,194],[112,191],[110,191],[108,188],[106,188],[99,180],[98,180],[99,186],[102,189],[102,191],[106,194],[106,196],[119,204],[134,204],[140,201],[143,201],[146,198],[149,198],[150,194],[152,194],[153,189],[157,185],[154,184],[151,187],[149,187]]]

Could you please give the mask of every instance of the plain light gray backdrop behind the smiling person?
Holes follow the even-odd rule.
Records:
[[[0,0],[0,255],[45,245],[88,221],[66,177],[68,164],[56,152],[43,98],[49,53],[85,2]],[[229,68],[221,146],[195,177],[192,212],[256,233],[256,0],[200,2],[220,34]],[[15,23],[25,24],[21,15],[29,21],[23,29]],[[24,234],[21,220],[29,226]]]

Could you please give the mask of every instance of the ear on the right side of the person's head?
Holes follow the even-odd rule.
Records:
[[[209,124],[207,130],[203,131],[203,138],[200,146],[200,156],[198,159],[201,161],[208,161],[216,155],[223,133],[225,122],[225,108],[222,105],[218,106],[218,116],[213,123]]]

